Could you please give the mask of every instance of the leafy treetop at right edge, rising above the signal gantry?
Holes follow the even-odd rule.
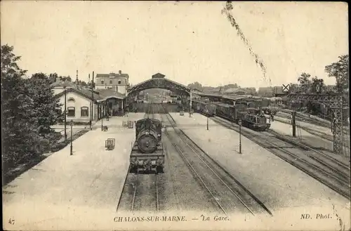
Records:
[[[349,55],[341,55],[338,62],[333,62],[325,67],[329,77],[336,79],[338,93],[344,93],[349,88]]]

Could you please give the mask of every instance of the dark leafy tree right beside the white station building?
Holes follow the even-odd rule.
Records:
[[[48,135],[55,135],[52,125],[62,119],[59,99],[53,95],[51,79],[43,73],[33,74],[27,79],[30,87],[30,96],[34,103],[34,118],[39,136],[46,138]],[[51,140],[55,141],[55,140]]]

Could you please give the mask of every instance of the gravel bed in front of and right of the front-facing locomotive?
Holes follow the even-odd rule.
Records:
[[[159,118],[156,116],[156,118]],[[163,133],[163,145],[165,154],[164,173],[157,176],[157,187],[159,193],[159,212],[182,212],[201,211],[211,212],[216,209],[211,198],[199,180],[190,171],[183,159],[173,147],[171,141]],[[128,174],[126,185],[121,195],[119,211],[130,211],[133,202],[135,183],[138,188],[135,195],[135,211],[155,212],[155,177],[154,174],[137,177]]]

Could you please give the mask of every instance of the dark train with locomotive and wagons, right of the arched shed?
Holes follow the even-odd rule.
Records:
[[[238,103],[236,105],[228,105],[225,103],[212,103],[205,100],[192,100],[192,109],[196,112],[204,114],[208,117],[222,117],[236,124],[255,131],[266,131],[270,128],[267,118],[263,114],[263,110],[250,107],[252,104]]]

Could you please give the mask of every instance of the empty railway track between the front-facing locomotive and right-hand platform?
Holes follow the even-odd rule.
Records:
[[[163,114],[161,119],[164,118],[173,128],[171,132],[165,131],[166,136],[172,140],[173,146],[185,164],[192,170],[220,211],[225,215],[242,211],[253,216],[258,213],[268,213],[272,216],[270,210],[246,187],[201,150],[183,131],[178,130],[169,114]]]

